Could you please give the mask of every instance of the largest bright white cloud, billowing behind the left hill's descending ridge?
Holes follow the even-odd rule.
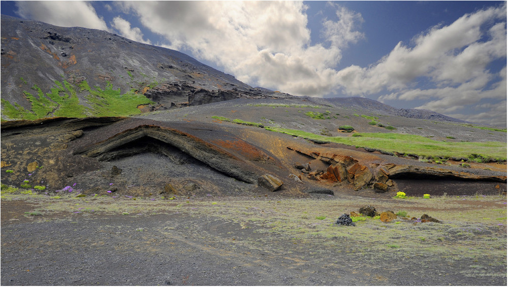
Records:
[[[141,23],[250,85],[296,95],[329,94],[341,49],[362,39],[358,13],[333,5],[337,19],[323,22],[326,43],[311,45],[302,2],[122,2]],[[325,47],[324,44],[328,47]]]

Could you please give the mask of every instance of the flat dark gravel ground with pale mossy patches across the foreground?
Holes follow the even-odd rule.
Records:
[[[356,227],[339,227],[329,224],[333,219],[323,226],[314,219],[313,209],[321,209],[315,214],[333,214],[325,211],[331,206],[352,209],[355,199],[350,197],[303,201],[205,198],[188,203],[10,199],[2,201],[1,209],[2,285],[506,284],[505,225],[504,229],[471,231],[472,237],[464,239],[450,230],[476,225],[458,226],[451,221],[422,224],[417,230],[403,221],[377,224],[368,219]],[[490,209],[502,207],[503,200],[505,203],[505,197],[486,199]],[[367,201],[356,199],[358,204]],[[485,209],[478,200],[468,202],[468,206],[478,206],[471,212]],[[425,208],[409,201],[378,204],[382,209],[403,205],[415,213]],[[440,204],[436,199],[432,205]],[[308,212],[302,213],[303,209]],[[43,214],[25,213],[37,210]],[[297,213],[305,215],[293,221]],[[288,217],[281,217],[283,214]],[[414,232],[415,238],[440,234],[444,242],[438,244],[430,235],[431,246],[422,249],[421,240],[405,241],[401,230]],[[388,233],[390,238],[400,238],[392,242],[399,247],[380,242]],[[471,243],[474,240],[480,246],[497,240],[498,244],[485,248],[498,250],[468,254],[467,249],[460,249],[464,244],[477,247]]]

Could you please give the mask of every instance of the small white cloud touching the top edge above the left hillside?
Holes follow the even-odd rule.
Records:
[[[16,5],[21,18],[61,27],[108,30],[104,19],[85,1],[18,1]]]

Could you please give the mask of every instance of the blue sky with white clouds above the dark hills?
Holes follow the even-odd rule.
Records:
[[[504,1],[2,1],[186,53],[256,87],[506,126]]]

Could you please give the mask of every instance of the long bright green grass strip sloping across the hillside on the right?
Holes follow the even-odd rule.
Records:
[[[349,146],[371,148],[400,154],[414,154],[424,158],[469,158],[487,161],[506,160],[506,142],[443,142],[427,137],[400,133],[358,133],[360,136],[323,136],[301,130],[266,127],[267,130],[343,143]]]

